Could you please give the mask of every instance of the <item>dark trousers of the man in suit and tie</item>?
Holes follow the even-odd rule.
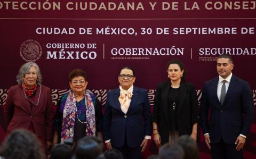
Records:
[[[236,150],[235,142],[234,144],[226,144],[223,139],[220,143],[212,144],[211,146],[211,155],[213,159],[242,159],[243,158],[243,149]]]

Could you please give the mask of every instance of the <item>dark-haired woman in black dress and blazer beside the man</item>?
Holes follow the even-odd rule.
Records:
[[[195,87],[185,82],[185,68],[179,59],[167,64],[169,81],[159,83],[153,109],[153,133],[157,146],[174,143],[181,135],[196,140],[198,102]]]

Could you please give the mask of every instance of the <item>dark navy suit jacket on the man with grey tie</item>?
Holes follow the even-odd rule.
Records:
[[[201,98],[200,119],[203,133],[210,133],[211,143],[221,137],[234,144],[241,133],[247,136],[253,118],[253,97],[249,83],[232,75],[223,105],[217,96],[219,77],[205,82]],[[210,122],[208,120],[210,110]]]

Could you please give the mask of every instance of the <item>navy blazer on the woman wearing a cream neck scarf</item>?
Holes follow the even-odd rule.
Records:
[[[111,139],[112,146],[122,147],[126,139],[129,147],[138,147],[146,135],[151,136],[152,131],[147,90],[133,86],[133,95],[126,114],[121,110],[119,96],[119,88],[108,92],[103,117],[104,140]]]

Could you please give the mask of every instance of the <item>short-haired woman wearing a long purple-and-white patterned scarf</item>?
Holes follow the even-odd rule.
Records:
[[[53,144],[72,139],[75,144],[84,136],[102,139],[102,112],[97,97],[89,90],[86,73],[75,69],[69,73],[70,91],[58,103],[54,118]]]

